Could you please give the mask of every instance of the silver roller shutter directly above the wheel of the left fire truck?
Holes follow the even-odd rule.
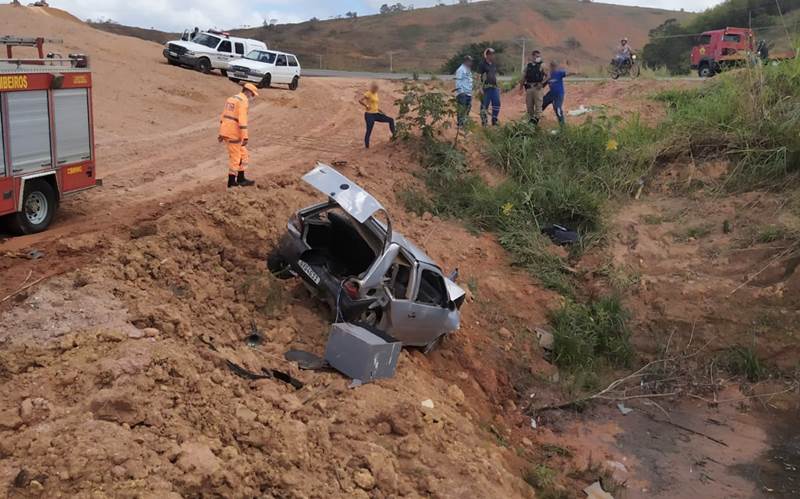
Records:
[[[47,91],[9,92],[7,99],[12,175],[52,168]]]

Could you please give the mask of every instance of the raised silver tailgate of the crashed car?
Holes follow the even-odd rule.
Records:
[[[372,194],[332,166],[317,163],[313,170],[303,175],[303,181],[328,196],[359,223],[363,224],[381,210],[386,211]]]

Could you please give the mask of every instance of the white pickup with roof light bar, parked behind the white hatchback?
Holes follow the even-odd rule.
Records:
[[[203,73],[219,69],[226,76],[228,63],[253,50],[267,50],[267,44],[249,38],[236,38],[218,31],[198,33],[192,40],[167,42],[164,57],[174,66],[190,66]]]

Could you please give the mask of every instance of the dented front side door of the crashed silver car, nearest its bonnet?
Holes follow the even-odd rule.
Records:
[[[405,345],[425,346],[447,331],[447,287],[435,269],[421,265],[411,299],[389,304],[389,333]]]

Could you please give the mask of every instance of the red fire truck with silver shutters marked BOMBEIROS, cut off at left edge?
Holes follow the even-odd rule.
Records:
[[[64,196],[97,183],[87,59],[45,56],[44,41],[0,37],[0,216],[17,234],[45,230]],[[20,46],[39,57],[14,59]]]

